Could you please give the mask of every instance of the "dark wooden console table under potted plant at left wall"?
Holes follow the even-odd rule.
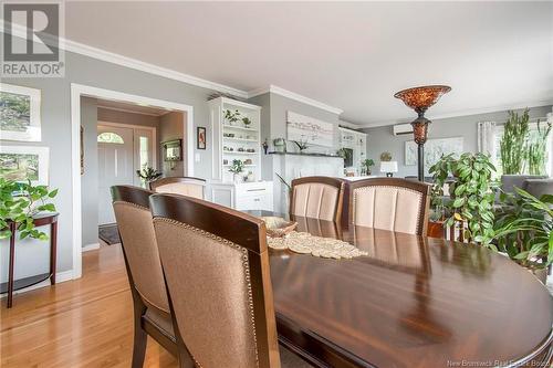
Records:
[[[55,284],[55,260],[58,246],[58,215],[59,213],[39,213],[34,217],[35,227],[44,227],[50,224],[50,272],[43,273],[21,280],[13,280],[13,271],[15,264],[15,238],[17,238],[17,222],[10,222],[10,250],[9,250],[9,266],[8,266],[8,282],[0,284],[0,294],[8,293],[8,308],[13,304],[13,292],[20,288],[29,287],[50,278],[52,285]]]

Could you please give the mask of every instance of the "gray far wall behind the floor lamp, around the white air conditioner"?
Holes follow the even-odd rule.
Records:
[[[551,112],[551,106],[530,108],[530,117],[545,117]],[[415,117],[414,117],[415,118]],[[508,112],[450,117],[432,120],[428,128],[428,139],[463,137],[463,150],[476,153],[478,150],[477,125],[479,122],[495,122],[502,124],[508,118]],[[398,164],[397,177],[416,176],[417,166],[405,166],[405,143],[413,140],[413,135],[394,136],[392,126],[363,129],[367,133],[367,158],[375,160],[374,172],[379,175],[380,154],[388,151],[393,160]]]

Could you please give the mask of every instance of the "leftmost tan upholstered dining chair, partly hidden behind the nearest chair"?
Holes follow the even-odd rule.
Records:
[[[138,187],[112,187],[113,208],[134,304],[133,368],[143,367],[147,335],[174,356],[177,344],[157,250],[149,196]]]

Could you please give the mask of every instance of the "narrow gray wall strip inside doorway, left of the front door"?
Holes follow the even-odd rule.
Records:
[[[98,149],[96,98],[81,97],[84,174],[81,176],[81,214],[83,246],[98,242]]]

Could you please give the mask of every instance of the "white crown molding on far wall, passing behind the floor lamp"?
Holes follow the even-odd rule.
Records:
[[[447,114],[439,114],[439,115],[429,115],[429,116],[427,116],[427,118],[429,120],[439,120],[439,119],[447,119],[447,118],[451,118],[451,117],[481,115],[481,114],[507,112],[510,109],[522,109],[522,108],[526,108],[526,107],[529,107],[529,108],[543,107],[543,106],[550,106],[550,105],[553,105],[553,98],[533,101],[533,102],[531,101],[531,102],[518,103],[518,104],[513,104],[513,105],[499,105],[499,106],[482,107],[482,108],[470,108],[470,109],[465,109],[462,112],[455,112],[455,113],[447,113]],[[405,124],[405,123],[410,123],[414,118],[415,118],[415,115],[413,118],[399,118],[399,119],[395,119],[395,120],[382,120],[382,122],[375,122],[375,123],[371,123],[371,124],[363,124],[363,125],[358,125],[358,129],[377,128],[377,127],[382,127],[382,126]]]

